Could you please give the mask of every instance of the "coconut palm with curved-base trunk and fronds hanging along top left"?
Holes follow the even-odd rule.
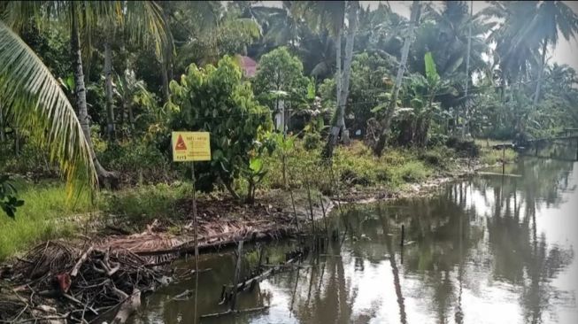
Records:
[[[68,23],[71,35],[71,58],[73,62],[74,96],[78,118],[89,144],[90,157],[96,169],[98,178],[106,185],[116,186],[117,176],[104,169],[96,158],[90,136],[90,118],[86,100],[86,87],[81,54],[81,33],[89,35],[99,23],[117,21],[133,26],[130,28],[131,38],[137,42],[149,42],[150,35],[166,37],[167,32],[161,21],[158,6],[150,2],[97,2],[97,1],[11,1],[4,5],[4,19],[16,30],[30,19],[39,26],[50,22]],[[143,33],[143,30],[154,30],[154,33]],[[161,42],[156,44],[157,52],[162,50]]]

